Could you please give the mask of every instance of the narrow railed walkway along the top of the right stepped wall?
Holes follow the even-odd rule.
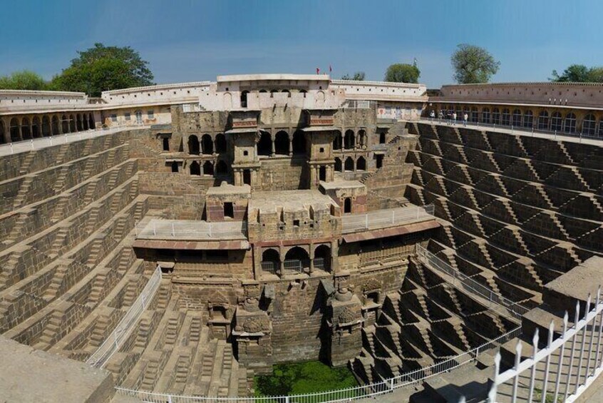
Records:
[[[495,125],[493,123],[467,122],[466,126],[462,120],[453,123],[449,119],[439,118],[421,118],[418,123],[431,125],[450,125],[457,128],[467,127],[480,131],[496,131],[497,133],[508,133],[517,136],[547,138],[555,141],[567,141],[568,143],[582,143],[594,146],[603,146],[603,138],[595,136],[584,136],[582,133],[566,133],[563,131],[548,131],[538,128],[527,128],[522,126]]]

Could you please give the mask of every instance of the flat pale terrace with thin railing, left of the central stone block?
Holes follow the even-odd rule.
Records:
[[[200,220],[150,220],[135,225],[137,239],[242,238],[247,221],[207,223]]]

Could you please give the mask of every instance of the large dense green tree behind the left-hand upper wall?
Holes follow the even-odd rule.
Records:
[[[64,91],[81,91],[100,96],[102,91],[118,88],[153,85],[153,73],[148,61],[140,58],[130,46],[118,48],[94,44],[86,51],[78,51],[71,66],[55,76],[51,87]]]

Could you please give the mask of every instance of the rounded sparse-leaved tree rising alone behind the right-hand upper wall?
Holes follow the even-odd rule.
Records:
[[[475,45],[460,44],[450,57],[457,83],[488,83],[498,71],[500,61],[487,50]]]

